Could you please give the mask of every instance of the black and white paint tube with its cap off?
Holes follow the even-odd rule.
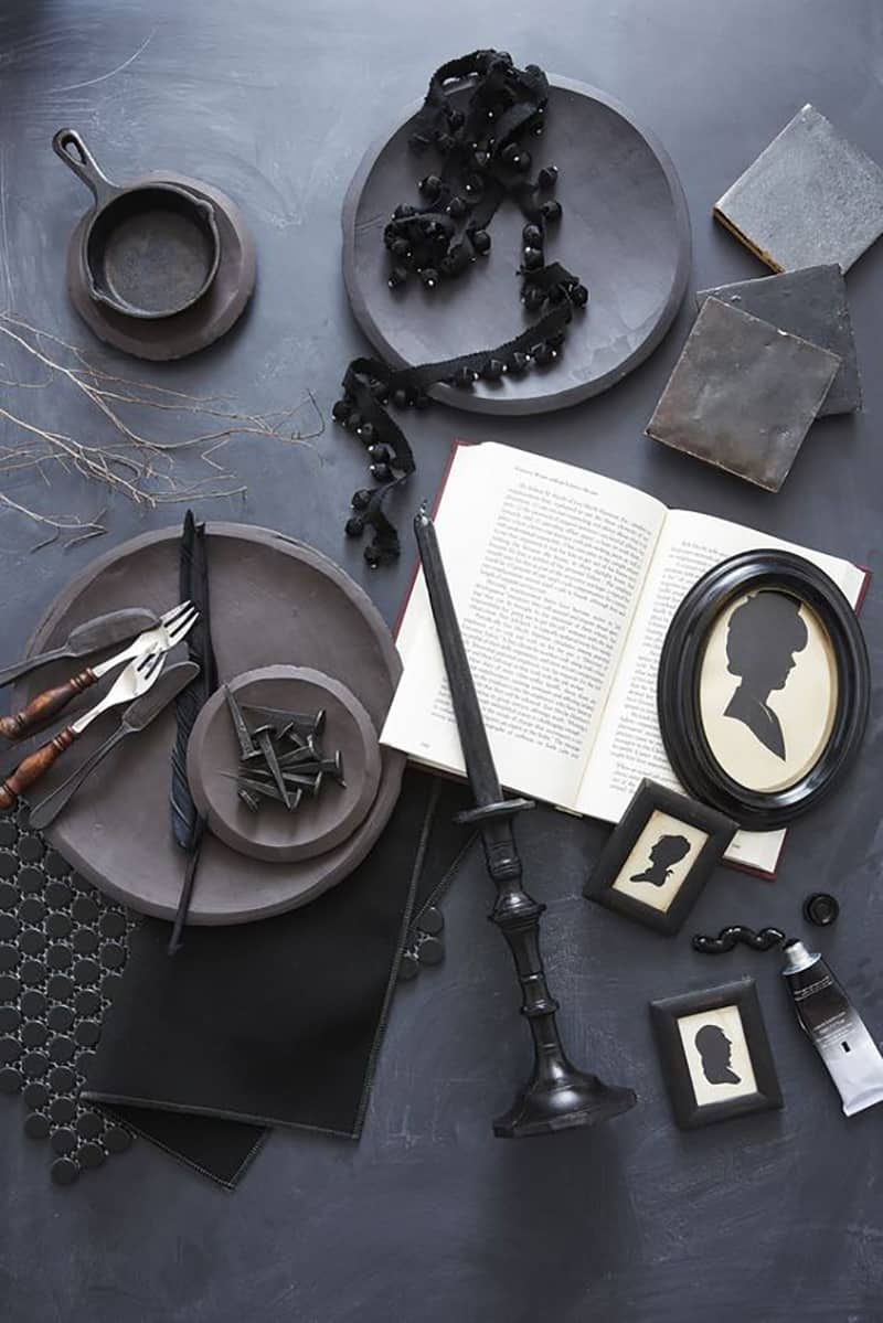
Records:
[[[883,1056],[818,951],[785,946],[782,975],[801,1028],[827,1066],[847,1117],[883,1102]]]

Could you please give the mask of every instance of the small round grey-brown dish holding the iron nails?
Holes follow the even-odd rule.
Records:
[[[209,831],[230,849],[271,864],[324,855],[352,836],[380,785],[377,732],[356,696],[320,671],[294,665],[246,671],[228,688],[238,703],[287,712],[322,709],[326,721],[320,746],[326,757],[340,753],[344,783],[323,777],[319,794],[304,794],[293,812],[273,800],[263,800],[253,812],[230,779],[241,770],[240,745],[226,697],[218,689],[200,712],[187,749],[191,791]]]

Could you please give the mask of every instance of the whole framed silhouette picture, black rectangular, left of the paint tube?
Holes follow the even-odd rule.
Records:
[[[753,979],[651,1002],[650,1013],[682,1129],[782,1106]]]

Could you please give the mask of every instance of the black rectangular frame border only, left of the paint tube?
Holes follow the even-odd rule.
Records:
[[[678,1021],[687,1015],[736,1005],[755,1072],[756,1091],[725,1102],[699,1105],[690,1080]],[[728,1121],[752,1111],[782,1106],[776,1064],[753,979],[739,979],[699,992],[665,998],[650,1003],[650,1017],[675,1121],[682,1130],[695,1130],[716,1121]]]

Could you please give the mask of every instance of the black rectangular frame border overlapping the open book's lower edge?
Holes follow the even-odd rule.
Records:
[[[657,810],[678,819],[678,822],[688,827],[695,827],[706,832],[708,836],[694,859],[676,896],[666,910],[645,905],[637,897],[626,896],[621,890],[614,890],[613,886],[641,832]],[[737,824],[731,818],[725,818],[718,812],[716,808],[708,808],[696,799],[679,795],[667,786],[661,786],[658,782],[645,778],[606,843],[582,889],[582,894],[588,896],[589,900],[597,901],[598,905],[604,905],[606,909],[637,919],[638,923],[646,923],[647,927],[654,927],[658,933],[673,935],[679,931],[736,831]]]

